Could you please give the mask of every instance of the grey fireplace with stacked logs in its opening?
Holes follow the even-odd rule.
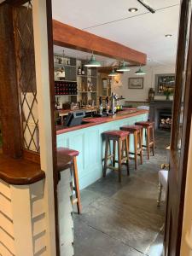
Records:
[[[154,121],[154,129],[171,130],[172,101],[154,100],[149,106],[149,117],[150,121]]]

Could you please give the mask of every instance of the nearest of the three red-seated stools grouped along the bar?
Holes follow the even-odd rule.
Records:
[[[119,183],[121,183],[121,166],[123,163],[127,166],[127,175],[129,172],[129,132],[128,131],[105,131],[102,137],[106,140],[105,159],[103,177],[106,177],[107,169],[119,172]],[[113,154],[108,154],[109,144],[113,141]],[[115,160],[116,143],[118,144],[118,160]],[[125,156],[124,156],[125,153]],[[108,159],[112,160],[111,165],[108,166]],[[118,163],[118,168],[115,168],[115,163]]]

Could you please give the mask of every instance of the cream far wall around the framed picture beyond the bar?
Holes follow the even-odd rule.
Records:
[[[150,87],[154,88],[155,83],[155,74],[160,73],[175,73],[175,66],[155,66],[150,67],[146,66],[143,67],[143,70],[146,72],[144,76],[143,82],[143,90],[138,89],[128,89],[128,79],[129,78],[138,78],[139,76],[135,75],[138,67],[131,67],[130,72],[126,72],[121,76],[121,86],[113,85],[113,91],[117,93],[119,96],[124,96],[125,101],[133,101],[133,102],[145,102],[148,99],[148,89]],[[157,96],[155,97],[158,99],[159,97],[166,98],[166,96]],[[122,102],[123,103],[123,102]]]

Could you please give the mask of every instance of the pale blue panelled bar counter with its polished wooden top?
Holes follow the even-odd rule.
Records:
[[[148,111],[137,108],[126,108],[113,116],[87,118],[83,125],[57,127],[57,147],[72,148],[79,151],[79,187],[84,189],[102,177],[102,159],[104,142],[102,132],[119,130],[123,125],[134,125],[135,122],[148,119]],[[133,148],[133,137],[130,138],[130,149]]]

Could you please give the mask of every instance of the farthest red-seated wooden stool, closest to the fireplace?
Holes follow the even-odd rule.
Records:
[[[153,155],[154,155],[154,122],[149,122],[149,121],[142,121],[142,122],[137,122],[136,125],[141,125],[143,126],[143,129],[146,131],[146,145],[143,145],[143,147],[147,148],[148,151],[148,160],[150,157],[150,148],[153,150]]]

